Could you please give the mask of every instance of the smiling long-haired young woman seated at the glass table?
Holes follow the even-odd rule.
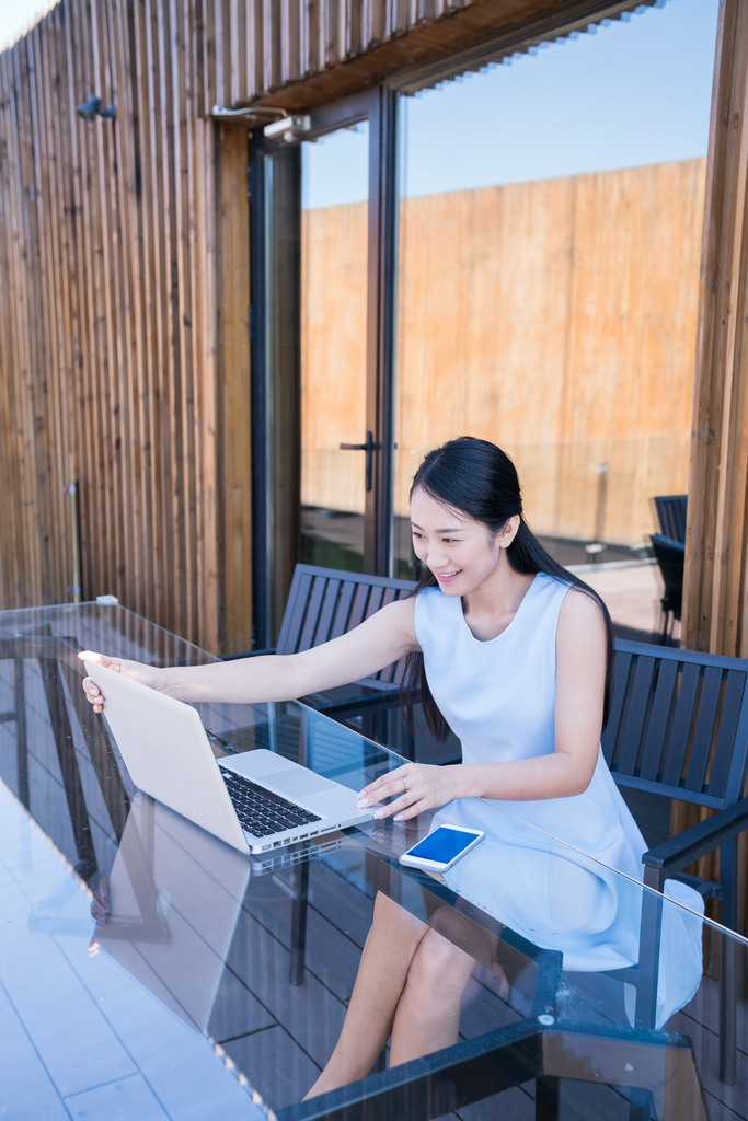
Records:
[[[463,761],[406,763],[366,787],[361,805],[377,805],[379,818],[436,809],[434,825],[478,825],[487,841],[447,873],[451,887],[521,929],[523,897],[539,884],[537,909],[548,930],[563,932],[565,967],[632,964],[636,916],[621,933],[604,874],[581,854],[574,863],[567,850],[533,852],[523,825],[641,878],[646,845],[600,750],[610,701],[608,612],[532,535],[514,464],[493,444],[465,436],[431,452],[410,510],[413,547],[426,567],[417,594],[332,642],[289,657],[173,669],[81,657],[182,701],[256,702],[343,685],[409,655],[426,720],[437,735],[453,729]],[[98,687],[86,678],[84,688],[101,712]],[[394,800],[379,805],[386,798]],[[340,1040],[308,1096],[366,1076],[390,1037],[393,1066],[453,1044],[474,964],[379,893]],[[696,985],[700,975],[699,965]],[[690,994],[671,990],[669,1003]]]

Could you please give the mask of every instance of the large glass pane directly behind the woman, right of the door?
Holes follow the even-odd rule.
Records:
[[[398,575],[413,473],[455,436],[514,457],[564,564],[640,559],[654,495],[686,491],[717,10],[640,8],[401,99]]]

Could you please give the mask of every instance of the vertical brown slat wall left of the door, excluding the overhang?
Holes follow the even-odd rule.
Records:
[[[72,453],[84,595],[214,647],[214,127],[195,15],[66,0],[0,55],[1,605],[68,599]],[[114,124],[76,117],[92,93]]]

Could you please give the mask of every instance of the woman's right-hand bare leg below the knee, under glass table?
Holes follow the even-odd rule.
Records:
[[[393,1025],[389,1065],[399,1066],[458,1041],[460,1001],[475,960],[437,930],[419,941]]]

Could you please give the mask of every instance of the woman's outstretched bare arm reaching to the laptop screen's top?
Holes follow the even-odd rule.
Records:
[[[414,626],[415,600],[398,600],[371,615],[348,634],[303,654],[238,658],[207,666],[158,669],[139,661],[110,658],[84,650],[79,658],[99,663],[177,701],[290,701],[321,689],[347,685],[389,666],[418,649]],[[94,712],[104,697],[86,677],[83,682]]]

